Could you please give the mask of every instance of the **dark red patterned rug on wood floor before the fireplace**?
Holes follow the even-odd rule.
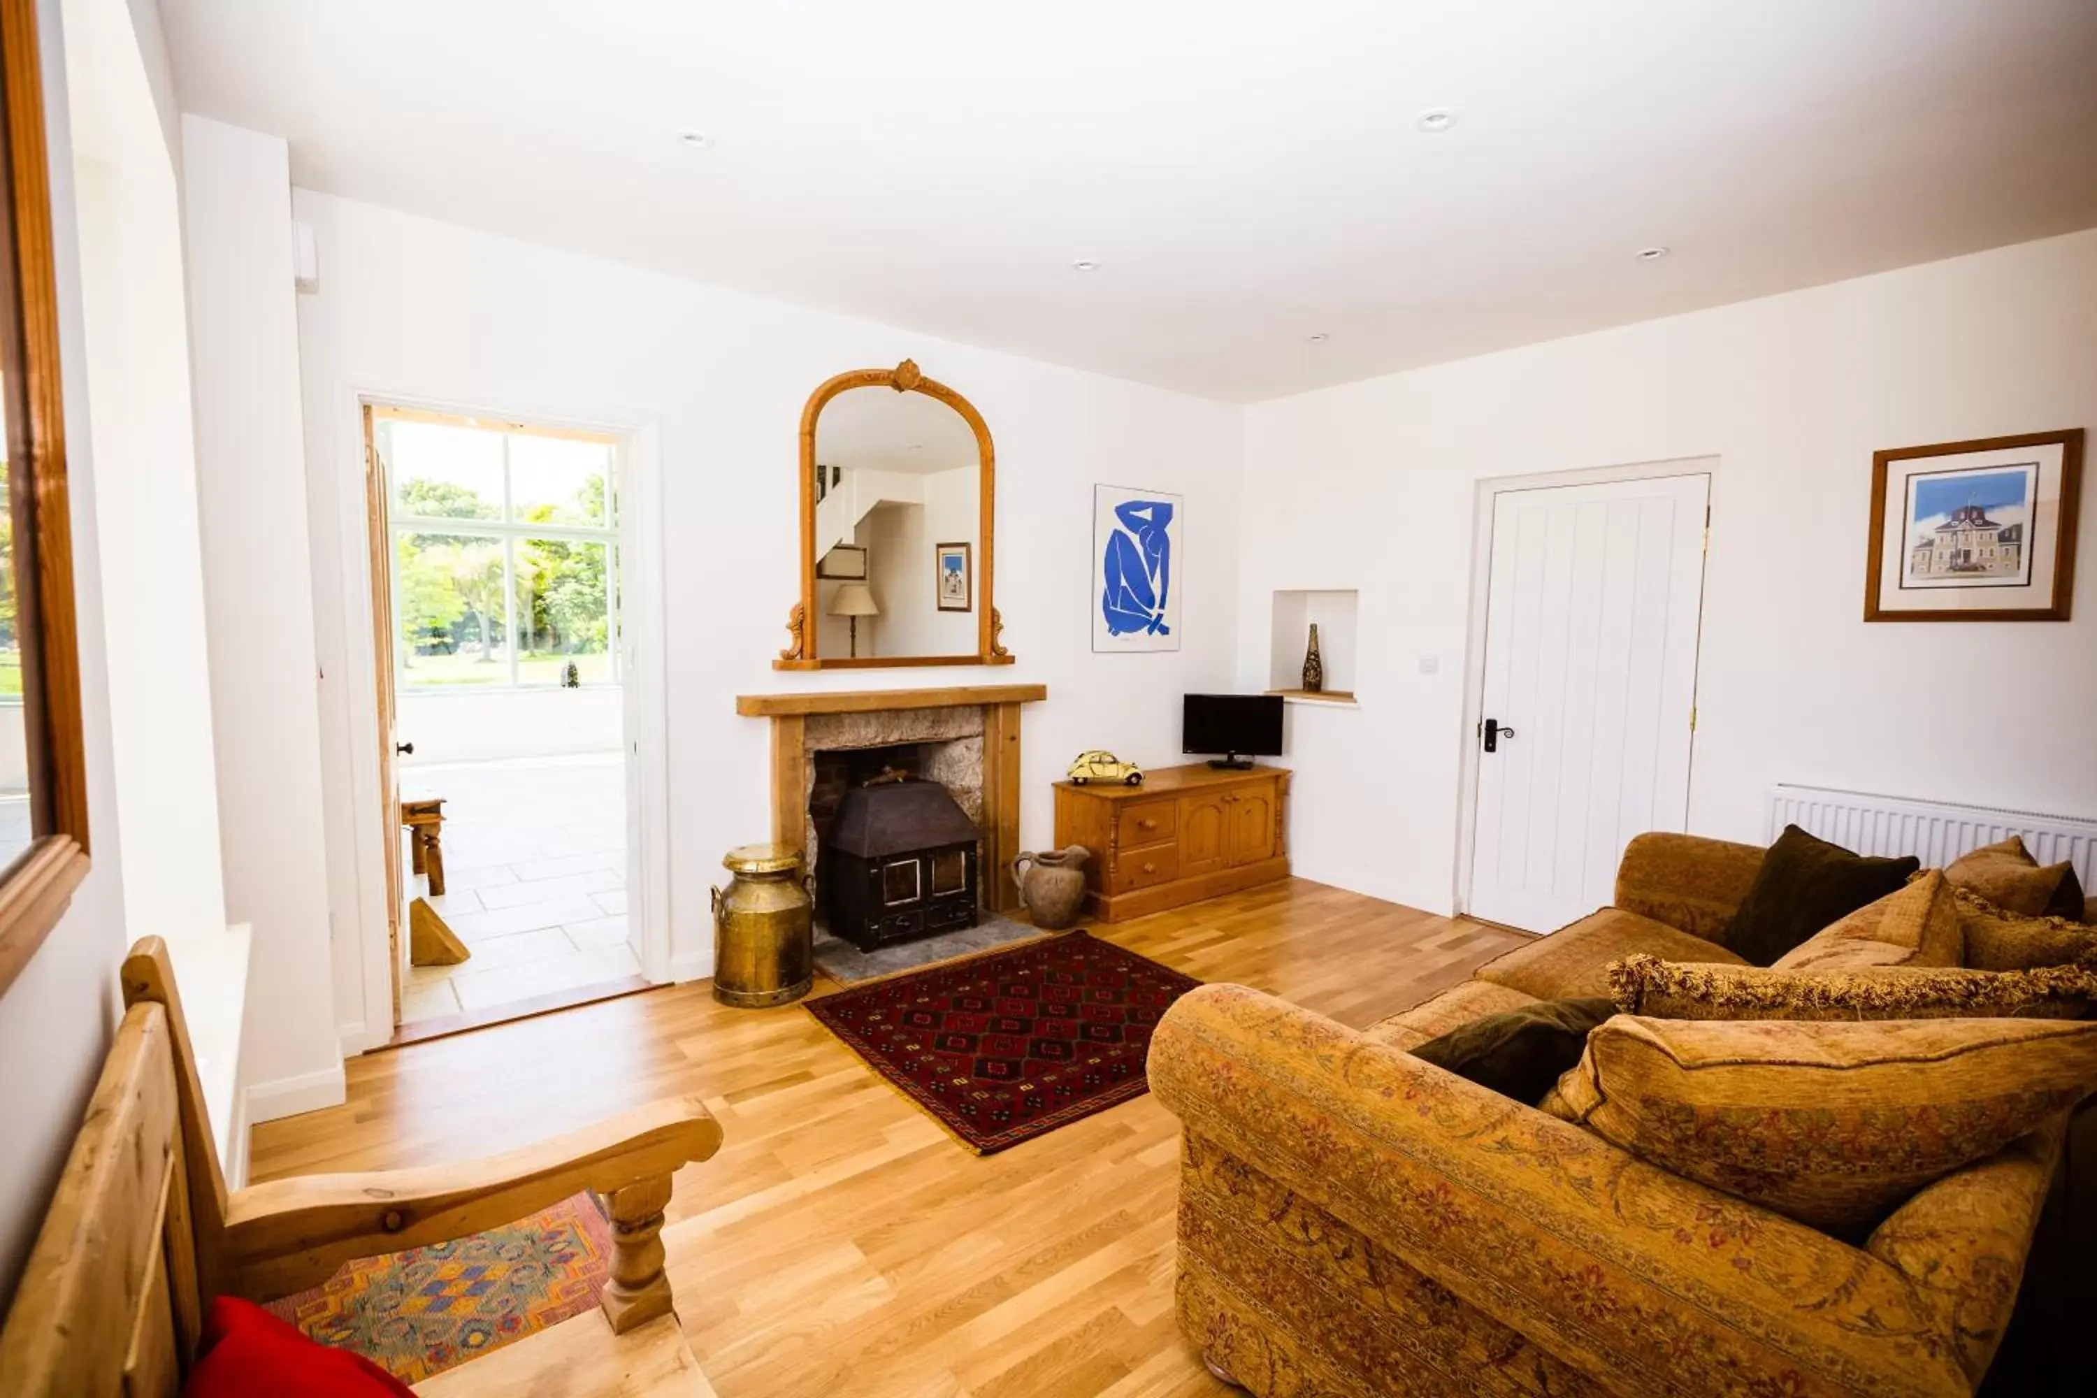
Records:
[[[1151,1029],[1199,981],[1086,933],[862,985],[807,1012],[977,1155],[1149,1092]]]

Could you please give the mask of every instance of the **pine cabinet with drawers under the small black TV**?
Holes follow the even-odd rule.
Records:
[[[1199,903],[1290,876],[1290,773],[1208,763],[1149,771],[1143,786],[1055,784],[1055,843],[1084,845],[1084,910],[1101,922]]]

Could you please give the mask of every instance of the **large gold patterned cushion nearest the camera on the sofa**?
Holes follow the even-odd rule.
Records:
[[[1610,1144],[1837,1237],[2097,1090],[2097,1023],[1619,1014],[1543,1098]]]

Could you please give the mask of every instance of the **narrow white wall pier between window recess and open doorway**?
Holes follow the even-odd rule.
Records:
[[[340,1102],[289,151],[182,117],[197,482],[226,910],[254,926],[256,1121]],[[367,685],[369,687],[369,685]]]

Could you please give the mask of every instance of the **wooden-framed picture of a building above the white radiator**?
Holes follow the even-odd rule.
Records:
[[[1881,451],[1864,620],[2068,620],[2082,428]]]

